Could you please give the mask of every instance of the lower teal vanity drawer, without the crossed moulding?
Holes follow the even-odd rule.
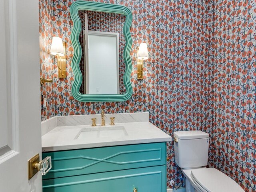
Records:
[[[43,192],[166,192],[166,166],[43,180]]]

